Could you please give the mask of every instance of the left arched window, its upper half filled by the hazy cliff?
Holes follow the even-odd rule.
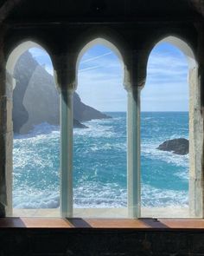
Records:
[[[13,215],[59,216],[60,109],[48,53],[33,42],[20,44],[8,59],[7,78],[13,102]]]

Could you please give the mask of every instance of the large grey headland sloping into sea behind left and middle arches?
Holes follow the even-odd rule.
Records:
[[[14,133],[25,134],[41,122],[60,123],[60,97],[54,77],[50,75],[29,51],[16,62],[13,91]],[[73,94],[73,127],[86,128],[81,121],[109,118],[97,109],[87,106],[77,93]]]

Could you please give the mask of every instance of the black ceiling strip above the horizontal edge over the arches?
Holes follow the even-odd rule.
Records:
[[[185,19],[204,14],[203,0],[0,0],[1,9],[5,5],[7,19],[24,22]]]

